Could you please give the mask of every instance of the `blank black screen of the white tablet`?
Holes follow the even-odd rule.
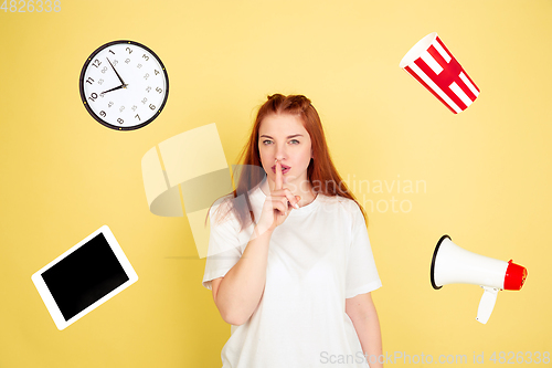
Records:
[[[42,277],[65,320],[129,280],[103,233],[46,270]]]

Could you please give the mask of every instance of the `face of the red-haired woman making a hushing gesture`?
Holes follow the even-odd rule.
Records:
[[[310,136],[300,117],[289,114],[266,116],[258,129],[258,150],[272,189],[276,178],[275,160],[278,159],[286,188],[291,192],[300,191],[299,188],[308,190],[307,168],[312,150]]]

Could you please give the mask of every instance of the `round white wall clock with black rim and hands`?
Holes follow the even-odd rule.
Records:
[[[104,126],[131,130],[151,123],[169,93],[161,60],[134,41],[106,43],[87,59],[81,73],[81,98]]]

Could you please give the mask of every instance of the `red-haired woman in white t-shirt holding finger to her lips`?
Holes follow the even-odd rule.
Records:
[[[240,162],[209,211],[203,277],[232,325],[223,368],[381,367],[365,214],[310,101],[268,96]]]

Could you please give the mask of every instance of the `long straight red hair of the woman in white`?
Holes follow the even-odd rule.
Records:
[[[251,210],[252,206],[247,192],[257,186],[266,175],[263,169],[258,169],[263,168],[258,150],[258,130],[263,119],[272,114],[289,114],[300,117],[305,129],[310,135],[314,159],[310,159],[307,168],[307,178],[312,186],[312,190],[316,193],[322,193],[328,197],[340,196],[353,200],[357,206],[359,206],[362,215],[364,217],[364,222],[367,222],[367,213],[364,209],[359,204],[352,192],[349,191],[346,182],[341,179],[336,167],[333,166],[333,162],[331,161],[328,145],[326,144],[326,137],[323,135],[322,123],[320,122],[320,117],[318,116],[315,106],[310,103],[310,99],[302,95],[284,96],[275,94],[268,96],[268,101],[265,102],[258,109],[250,139],[238,156],[237,162],[242,162],[242,172],[237,181],[237,188],[231,193],[224,196],[224,201],[231,200],[233,204],[225,207],[227,209],[226,214],[231,210],[234,211],[234,214],[241,225],[240,231],[248,227],[252,221],[253,223],[256,223],[253,211]],[[325,185],[318,187],[312,183]],[[331,183],[331,186],[328,187],[328,183]],[[245,202],[233,200],[240,196],[244,196]],[[221,207],[222,206],[220,206],[217,210]]]

